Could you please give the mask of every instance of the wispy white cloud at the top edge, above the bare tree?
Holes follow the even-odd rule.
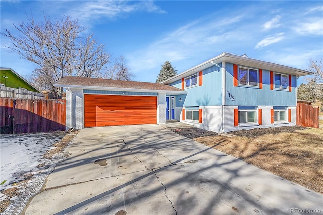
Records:
[[[113,19],[136,11],[165,13],[159,6],[154,5],[152,1],[90,1],[81,2],[78,7],[71,9],[68,14],[82,22],[89,22],[99,18]]]

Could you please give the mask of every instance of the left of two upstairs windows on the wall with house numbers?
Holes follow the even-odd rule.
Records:
[[[258,86],[259,71],[247,67],[239,67],[239,85]]]

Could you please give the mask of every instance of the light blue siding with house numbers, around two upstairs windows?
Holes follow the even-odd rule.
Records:
[[[261,69],[261,68],[259,68]],[[279,71],[274,71],[279,72]],[[292,76],[292,92],[270,90],[270,71],[262,70],[263,88],[234,87],[233,64],[226,63],[226,105],[236,106],[295,106],[296,77]],[[230,95],[231,98],[230,98]],[[232,99],[234,97],[234,99]]]

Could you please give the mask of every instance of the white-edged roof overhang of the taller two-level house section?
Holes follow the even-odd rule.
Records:
[[[192,67],[191,69],[188,69],[176,76],[173,76],[172,78],[167,79],[166,81],[161,82],[162,84],[170,84],[176,80],[179,80],[181,78],[185,78],[187,76],[190,76],[196,72],[199,72],[201,70],[204,70],[208,67],[211,67],[215,64],[220,64],[222,62],[229,62],[233,64],[243,65],[243,66],[249,66],[249,67],[255,67],[275,72],[281,72],[296,76],[304,76],[304,75],[311,75],[313,74],[310,71],[301,70],[293,67],[288,67],[280,64],[275,64],[271,62],[261,61],[253,58],[249,58],[246,54],[243,56],[240,55],[234,55],[231,53],[222,53],[221,55],[218,55],[212,59],[209,59],[195,67]]]

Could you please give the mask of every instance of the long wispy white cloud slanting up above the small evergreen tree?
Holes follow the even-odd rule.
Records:
[[[205,19],[193,21],[166,34],[146,48],[126,56],[129,66],[133,72],[139,72],[161,65],[165,60],[176,62],[196,56],[199,52],[214,51],[214,47],[218,48],[224,41],[233,38],[242,39],[237,32],[222,32],[224,28],[235,28],[232,25],[241,19],[242,16],[236,16],[223,20],[213,18],[207,21]]]

